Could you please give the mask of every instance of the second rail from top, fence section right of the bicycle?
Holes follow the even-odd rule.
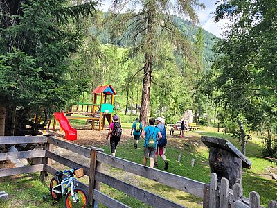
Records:
[[[139,187],[135,187],[131,184],[127,184],[126,182],[120,181],[114,177],[106,175],[105,173],[100,173],[96,171],[96,180],[107,184],[110,187],[114,187],[119,191],[123,191],[127,195],[141,200],[142,202],[145,202],[145,204],[152,205],[153,207],[184,208],[184,206],[178,205],[177,203],[167,200],[166,198],[158,196],[154,193],[151,193],[150,191],[141,189]]]

